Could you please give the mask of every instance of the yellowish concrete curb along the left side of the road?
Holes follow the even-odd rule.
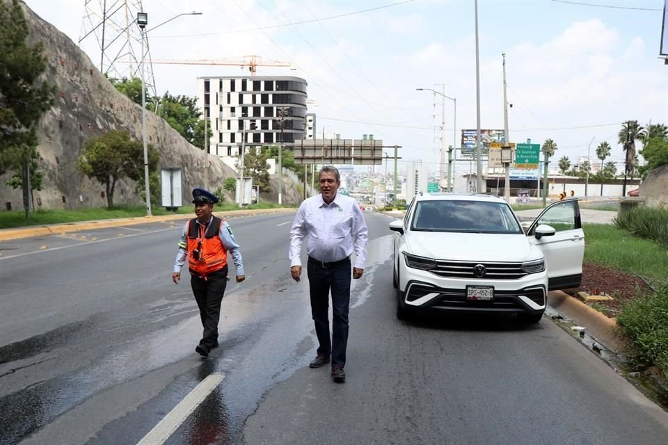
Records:
[[[258,210],[230,210],[214,211],[216,216],[245,216],[263,215],[267,213],[288,213],[295,209],[258,209]],[[71,232],[83,232],[85,230],[105,229],[108,227],[122,227],[127,225],[139,225],[148,223],[163,223],[169,221],[187,220],[194,218],[194,213],[182,213],[162,216],[141,216],[136,218],[116,218],[111,220],[81,221],[77,223],[63,223],[39,225],[30,227],[19,227],[16,229],[0,229],[0,241],[10,241],[20,238],[31,238],[33,236],[60,235]]]

